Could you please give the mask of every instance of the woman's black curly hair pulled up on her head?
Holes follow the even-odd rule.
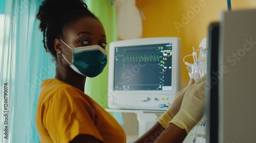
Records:
[[[54,39],[63,37],[65,27],[86,16],[99,21],[82,0],[45,0],[41,3],[36,18],[40,20],[44,48],[46,52],[50,51],[55,60]]]

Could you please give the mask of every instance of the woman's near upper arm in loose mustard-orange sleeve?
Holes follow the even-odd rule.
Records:
[[[103,142],[90,103],[71,87],[61,89],[45,109],[44,122],[52,142]]]

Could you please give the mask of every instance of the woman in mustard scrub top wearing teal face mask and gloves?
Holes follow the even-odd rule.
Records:
[[[42,82],[37,104],[41,142],[126,142],[115,118],[84,93],[86,77],[99,75],[107,62],[106,35],[99,19],[80,0],[46,0],[37,18],[44,47],[56,60],[56,76]],[[194,104],[187,101],[204,99],[203,78],[193,83],[190,80],[159,122],[136,142],[182,142],[203,113],[204,102],[189,111]]]

